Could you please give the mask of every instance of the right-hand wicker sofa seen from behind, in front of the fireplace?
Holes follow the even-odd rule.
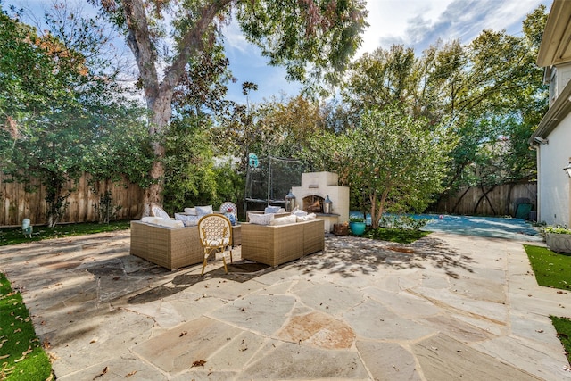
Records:
[[[325,247],[323,219],[290,225],[242,224],[242,259],[276,267]]]

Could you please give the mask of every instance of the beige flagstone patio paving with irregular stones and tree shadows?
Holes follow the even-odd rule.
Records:
[[[129,255],[128,234],[0,248],[58,380],[571,380],[549,319],[571,296],[537,286],[522,242],[327,236],[201,277]]]

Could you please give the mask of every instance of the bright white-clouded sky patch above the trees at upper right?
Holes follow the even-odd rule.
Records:
[[[393,44],[418,53],[439,38],[468,44],[484,29],[521,30],[521,21],[551,0],[369,0],[368,23],[359,55]]]

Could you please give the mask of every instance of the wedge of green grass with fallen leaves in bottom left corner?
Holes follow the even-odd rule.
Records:
[[[21,294],[0,272],[0,379],[46,380],[52,365],[37,338]]]

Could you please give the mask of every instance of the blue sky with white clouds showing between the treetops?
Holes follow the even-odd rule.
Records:
[[[72,0],[70,0],[72,1]],[[46,8],[52,0],[0,0],[31,10]],[[368,0],[368,28],[363,43],[354,58],[378,47],[388,49],[394,44],[413,47],[417,55],[436,43],[459,39],[468,44],[484,29],[507,30],[511,35],[522,33],[525,15],[544,4],[547,12],[552,0]],[[260,50],[249,44],[236,23],[225,30],[225,48],[230,69],[237,81],[230,84],[228,98],[245,104],[242,83],[254,82],[258,90],[248,95],[248,101],[260,103],[271,96],[299,94],[301,84],[285,80],[285,69],[270,67]]]

